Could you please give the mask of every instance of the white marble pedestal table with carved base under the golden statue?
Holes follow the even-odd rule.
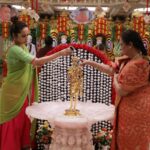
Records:
[[[50,150],[94,150],[91,126],[102,120],[112,120],[114,106],[101,103],[79,102],[80,116],[65,116],[69,102],[34,103],[27,107],[31,118],[48,120],[54,128]]]

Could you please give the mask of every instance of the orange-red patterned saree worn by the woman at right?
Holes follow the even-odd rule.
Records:
[[[129,61],[121,70],[118,82],[129,94],[116,107],[111,150],[150,150],[149,62]]]

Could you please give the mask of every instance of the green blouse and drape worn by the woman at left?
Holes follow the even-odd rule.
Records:
[[[0,124],[3,124],[20,112],[29,94],[34,79],[35,100],[38,99],[36,70],[32,67],[34,56],[23,46],[13,45],[6,56],[7,76],[5,77],[0,95]]]

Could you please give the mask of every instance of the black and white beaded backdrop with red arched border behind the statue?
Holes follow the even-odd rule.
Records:
[[[62,50],[65,46],[58,46],[53,50]],[[73,56],[77,56],[81,59],[90,59],[96,62],[108,63],[107,58],[100,51],[88,47],[86,45],[75,44],[73,45]],[[51,53],[50,53],[51,54]],[[96,56],[96,55],[97,56]],[[49,55],[49,54],[48,54]],[[67,80],[67,69],[71,66],[71,57],[65,56],[60,57],[52,62],[45,64],[41,68],[39,73],[39,90],[40,90],[40,101],[69,101],[69,83]],[[79,98],[79,101],[87,102],[92,101],[93,103],[105,103],[106,105],[111,104],[112,101],[112,79],[105,73],[102,73],[90,66],[83,67],[84,74],[84,88],[83,96]],[[43,120],[38,120],[38,126],[43,124]],[[111,123],[109,121],[101,121],[92,125],[91,132],[96,134],[100,128],[107,128],[110,130]],[[38,150],[42,149],[42,145],[38,144]]]

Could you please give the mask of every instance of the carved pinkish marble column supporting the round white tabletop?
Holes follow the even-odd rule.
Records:
[[[50,150],[94,150],[92,136],[86,127],[61,128],[55,126]]]

